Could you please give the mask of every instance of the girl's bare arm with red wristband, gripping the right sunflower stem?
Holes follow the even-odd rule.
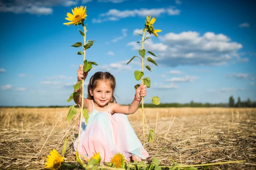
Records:
[[[131,102],[130,106],[123,106],[117,103],[113,103],[113,113],[123,113],[123,114],[133,114],[135,113],[139,106],[142,97],[145,97],[147,94],[146,85],[141,84],[137,88],[134,100]]]

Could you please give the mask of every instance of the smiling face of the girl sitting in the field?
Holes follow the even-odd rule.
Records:
[[[98,82],[96,88],[93,91],[90,91],[90,94],[93,96],[93,102],[102,108],[108,105],[108,102],[111,100],[113,91],[108,81],[101,81]]]

